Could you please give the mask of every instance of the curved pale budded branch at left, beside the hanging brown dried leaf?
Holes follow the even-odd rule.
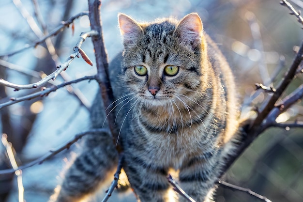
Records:
[[[27,84],[27,85],[18,85],[18,84],[14,84],[14,83],[10,83],[6,80],[0,79],[0,85],[4,85],[7,87],[11,87],[11,88],[15,88],[15,90],[20,90],[20,89],[32,89],[32,88],[37,88],[39,86],[44,85],[45,83],[47,83],[49,80],[51,79],[55,79],[57,78],[57,76],[62,72],[65,71],[67,69],[67,67],[70,65],[70,63],[78,56],[79,54],[79,47],[81,47],[82,43],[84,42],[84,40],[87,37],[91,37],[96,35],[97,32],[96,31],[89,31],[86,33],[82,33],[79,37],[78,42],[76,43],[76,46],[74,47],[74,52],[70,55],[70,57],[68,59],[66,59],[65,62],[63,62],[61,65],[57,66],[57,70],[54,71],[52,74],[46,76],[45,78],[41,79],[38,82],[35,83],[31,83],[31,84]]]

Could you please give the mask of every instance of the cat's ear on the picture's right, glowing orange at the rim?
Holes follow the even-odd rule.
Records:
[[[191,13],[183,17],[177,25],[174,34],[180,38],[180,43],[190,46],[193,50],[201,44],[203,25],[197,13]]]

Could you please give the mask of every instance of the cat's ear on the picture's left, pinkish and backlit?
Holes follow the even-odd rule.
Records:
[[[142,28],[134,19],[125,14],[118,14],[118,21],[124,47],[134,46],[138,37],[143,33]]]

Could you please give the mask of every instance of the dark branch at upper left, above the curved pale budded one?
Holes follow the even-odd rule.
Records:
[[[15,50],[11,53],[7,53],[7,54],[4,54],[4,55],[0,55],[0,58],[1,57],[9,57],[9,56],[12,56],[12,55],[15,55],[17,53],[20,53],[24,50],[27,50],[28,48],[31,48],[31,47],[36,47],[37,45],[45,42],[45,40],[51,36],[55,36],[57,35],[59,32],[63,31],[63,29],[65,27],[69,27],[70,24],[72,24],[75,19],[81,17],[81,16],[87,16],[88,15],[88,12],[81,12],[75,16],[72,16],[71,18],[69,18],[68,20],[66,20],[65,22],[63,22],[60,26],[58,26],[55,30],[51,31],[49,34],[45,35],[44,37],[42,37],[41,39],[37,40],[35,43],[31,44],[31,45],[26,45],[24,46],[23,48],[19,49],[19,50]]]

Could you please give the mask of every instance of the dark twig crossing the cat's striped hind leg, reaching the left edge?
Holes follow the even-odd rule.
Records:
[[[30,167],[32,167],[36,164],[42,164],[45,160],[59,154],[63,150],[69,149],[76,141],[80,140],[83,136],[99,134],[101,132],[109,133],[110,131],[107,128],[99,128],[99,129],[92,129],[92,130],[89,130],[89,131],[86,131],[86,132],[83,132],[83,133],[79,133],[74,137],[73,140],[67,142],[65,145],[63,145],[59,149],[54,150],[54,151],[50,151],[48,154],[46,154],[44,156],[41,156],[41,157],[37,158],[36,160],[31,161],[30,163],[27,163],[23,166],[19,166],[19,167],[16,168],[16,170],[23,170],[23,169],[26,169],[26,168],[30,168]],[[10,174],[10,173],[14,173],[14,172],[15,172],[14,169],[1,170],[0,175]]]

